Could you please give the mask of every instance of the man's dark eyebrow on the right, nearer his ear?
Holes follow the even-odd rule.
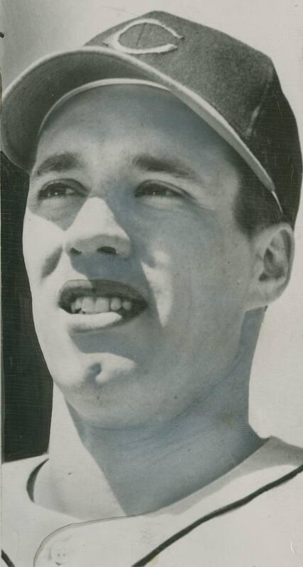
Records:
[[[190,181],[199,181],[199,175],[187,167],[181,159],[171,157],[155,157],[149,154],[141,154],[133,159],[133,165],[145,172],[166,173]]]

